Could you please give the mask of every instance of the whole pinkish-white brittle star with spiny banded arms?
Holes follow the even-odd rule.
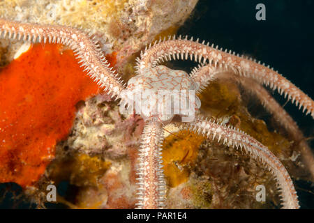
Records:
[[[148,91],[151,95],[155,95],[158,90],[165,89],[168,91],[197,91],[200,92],[204,86],[216,77],[220,77],[222,73],[231,72],[233,77],[239,77],[245,86],[250,83],[260,86],[266,84],[271,89],[278,89],[279,93],[284,93],[299,105],[304,107],[303,112],[311,114],[314,117],[314,102],[305,93],[299,90],[294,84],[282,77],[269,67],[256,63],[251,59],[245,59],[242,56],[235,55],[232,52],[223,52],[218,47],[214,48],[198,43],[198,39],[193,38],[169,38],[168,40],[149,45],[137,59],[137,76],[128,81],[128,86],[121,81],[121,78],[115,73],[110,64],[105,60],[105,56],[100,50],[95,40],[91,39],[92,35],[84,33],[79,29],[56,26],[56,25],[40,25],[30,23],[13,22],[0,19],[0,34],[4,38],[8,34],[11,39],[30,41],[31,43],[49,42],[61,43],[67,45],[84,67],[88,74],[94,79],[100,88],[105,89],[112,98],[121,98],[121,107],[128,107],[134,102],[134,98],[124,97],[126,95],[134,95],[135,89]],[[171,59],[194,59],[201,66],[195,68],[188,75],[181,70],[171,70],[158,63]],[[254,82],[252,81],[254,79]],[[178,82],[179,80],[179,82]],[[261,86],[260,86],[261,87]],[[251,91],[256,91],[251,87]],[[257,97],[262,102],[268,95],[261,87],[260,92],[256,92]],[[187,98],[183,98],[187,100]],[[274,105],[276,102],[271,101]],[[163,125],[170,122],[182,121],[186,113],[179,111],[179,114],[161,114],[154,113],[156,107],[166,109],[165,103],[160,100],[152,100],[144,112],[141,113],[142,118],[146,121],[142,133],[142,146],[140,146],[140,155],[138,158],[137,168],[137,208],[163,208],[165,206],[165,179],[163,176],[161,161],[161,143],[163,141]],[[200,100],[195,97],[195,101],[190,104],[193,109],[200,107]],[[280,107],[280,106],[279,106]],[[268,107],[269,108],[269,107]],[[274,109],[271,109],[274,112]],[[276,113],[276,112],[274,112]],[[297,128],[295,124],[285,115],[283,118],[275,114],[282,122],[290,121],[292,130]],[[297,193],[294,189],[292,180],[287,170],[281,164],[280,160],[273,155],[267,147],[263,146],[259,141],[253,139],[245,132],[233,127],[223,125],[213,119],[204,119],[199,114],[193,121],[180,123],[181,128],[188,128],[210,137],[210,140],[222,140],[227,146],[234,146],[246,151],[255,160],[260,160],[269,171],[276,177],[279,191],[281,192],[283,208],[299,208]],[[291,132],[291,130],[290,130]]]

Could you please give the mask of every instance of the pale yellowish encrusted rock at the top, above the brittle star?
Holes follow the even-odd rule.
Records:
[[[6,19],[61,24],[94,33],[107,54],[117,52],[123,70],[132,54],[162,32],[174,34],[188,18],[197,0],[31,0],[0,1]],[[12,59],[12,55],[8,60]],[[14,54],[13,54],[14,55]]]

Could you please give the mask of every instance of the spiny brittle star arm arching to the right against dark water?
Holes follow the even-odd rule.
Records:
[[[314,102],[303,91],[297,88],[294,84],[289,82],[285,77],[278,72],[264,66],[260,62],[255,63],[251,59],[245,59],[239,55],[235,55],[222,49],[218,49],[218,46],[214,48],[214,45],[209,47],[209,44],[204,45],[193,41],[193,38],[188,40],[187,38],[179,39],[172,38],[167,41],[156,43],[155,45],[149,45],[144,54],[141,54],[141,58],[137,61],[137,72],[141,72],[143,68],[154,67],[160,61],[171,59],[194,59],[199,63],[209,63],[215,68],[226,68],[233,70],[234,73],[244,76],[252,77],[261,84],[269,85],[271,89],[278,89],[278,92],[288,96],[292,99],[292,103],[299,105],[299,109],[304,107],[303,112],[311,114],[314,118]]]

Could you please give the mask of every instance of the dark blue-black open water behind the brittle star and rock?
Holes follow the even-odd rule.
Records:
[[[266,21],[255,19],[255,6],[264,3]],[[178,34],[206,40],[223,49],[232,49],[246,54],[274,67],[284,77],[314,98],[314,1],[245,1],[245,0],[200,0],[190,19],[179,29]],[[184,62],[190,67],[193,63]],[[182,66],[182,64],[181,64]],[[274,97],[285,104],[278,93]],[[252,105],[252,109],[254,109]],[[285,109],[299,124],[307,137],[314,136],[314,122],[311,116],[304,116],[290,102]],[[257,114],[265,116],[265,114]],[[314,148],[313,140],[311,148]],[[301,208],[314,208],[313,185],[297,180],[295,182]],[[58,188],[63,195],[68,183]],[[9,190],[6,190],[8,188]],[[21,188],[14,183],[0,185],[0,196],[7,191],[0,208],[35,208],[23,199],[12,201]],[[63,208],[47,203],[47,208]]]

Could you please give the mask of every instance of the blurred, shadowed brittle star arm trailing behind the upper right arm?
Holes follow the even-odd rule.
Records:
[[[314,157],[311,148],[306,141],[304,141],[303,133],[299,130],[297,123],[293,121],[292,117],[285,112],[285,109],[276,102],[263,86],[250,77],[235,76],[230,70],[226,70],[225,68],[214,68],[209,65],[194,68],[190,73],[190,77],[195,83],[199,84],[199,92],[202,91],[202,89],[204,89],[204,87],[213,79],[225,78],[234,79],[234,81],[239,82],[244,86],[244,89],[254,93],[265,109],[273,114],[276,121],[285,128],[290,137],[295,141],[299,141],[299,149],[301,151],[302,159],[306,163],[311,177],[314,179]]]

